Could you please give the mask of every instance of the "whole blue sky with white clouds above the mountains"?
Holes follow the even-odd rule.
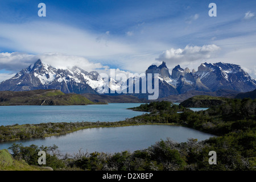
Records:
[[[42,2],[46,17],[38,16]],[[134,73],[163,60],[170,69],[222,61],[255,78],[255,15],[256,1],[1,1],[0,81],[38,58]]]

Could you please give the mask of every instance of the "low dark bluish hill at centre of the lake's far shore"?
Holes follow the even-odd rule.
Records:
[[[109,95],[98,95],[91,93],[83,93],[82,96],[85,96],[92,102],[105,102],[105,103],[144,103],[148,102],[148,100],[143,98],[138,98],[135,96],[127,96],[127,95],[117,95],[117,96],[109,96]]]

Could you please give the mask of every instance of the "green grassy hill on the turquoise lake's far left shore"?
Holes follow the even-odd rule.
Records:
[[[79,94],[64,94],[60,90],[2,91],[0,106],[7,105],[88,105],[94,102]]]

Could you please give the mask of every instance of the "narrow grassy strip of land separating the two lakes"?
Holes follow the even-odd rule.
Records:
[[[148,113],[135,116],[133,118],[126,118],[122,121],[97,121],[97,122],[46,122],[46,123],[26,123],[22,125],[6,125],[0,126],[0,144],[2,142],[18,141],[26,139],[40,139],[46,137],[67,135],[75,131],[92,129],[92,128],[103,128],[103,127],[124,127],[124,126],[139,126],[139,125],[171,125],[171,126],[183,126],[189,129],[195,129],[203,133],[217,135],[214,132],[208,130],[196,129],[186,125],[185,123],[176,122],[163,122],[154,119],[154,121],[147,120],[147,117],[152,115],[150,110],[141,110],[139,107],[129,107],[127,110],[133,111],[146,111]],[[181,110],[189,110],[181,108]],[[174,113],[179,114],[179,113]]]

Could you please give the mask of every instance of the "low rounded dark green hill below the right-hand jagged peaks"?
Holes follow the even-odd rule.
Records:
[[[180,103],[183,107],[211,107],[224,104],[228,98],[213,96],[194,96]]]

